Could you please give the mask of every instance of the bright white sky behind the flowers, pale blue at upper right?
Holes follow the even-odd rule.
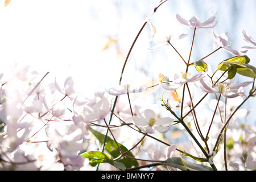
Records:
[[[98,86],[118,84],[131,43],[144,17],[159,0],[11,0],[7,7],[3,7],[4,2],[0,0],[1,65],[14,62],[20,66],[30,65],[42,76],[49,71],[47,77],[54,79],[56,76],[60,81],[72,76],[77,92],[90,97]],[[255,0],[170,0],[158,9],[151,23],[156,28],[156,38],[189,34],[176,44],[187,59],[192,31],[177,23],[176,13],[187,20],[197,15],[204,21],[217,12],[216,34],[229,32],[230,48],[238,49],[248,46],[241,38],[243,28],[256,39],[255,7]],[[109,38],[117,39],[117,44],[101,51]],[[143,72],[152,79],[160,72],[173,75],[174,64],[182,64],[170,47],[149,51],[148,48],[155,45],[149,39],[150,28],[147,26],[131,54],[124,81],[143,82],[144,78],[139,77]],[[212,44],[211,30],[197,31],[192,59],[200,59],[212,52]],[[118,57],[117,50],[123,57]],[[247,55],[256,66],[255,51]],[[231,56],[221,50],[208,61],[217,65]],[[3,68],[0,68],[1,72]]]

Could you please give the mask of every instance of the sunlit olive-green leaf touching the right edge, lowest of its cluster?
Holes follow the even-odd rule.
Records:
[[[256,78],[256,68],[250,64],[231,62],[231,61],[223,61],[222,63],[225,64],[226,67],[228,68],[231,66],[236,67],[237,73],[240,75]]]

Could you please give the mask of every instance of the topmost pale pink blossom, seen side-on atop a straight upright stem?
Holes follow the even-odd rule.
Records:
[[[185,26],[190,27],[191,29],[194,29],[194,28],[213,28],[217,24],[217,22],[213,24],[213,22],[216,19],[216,16],[217,16],[217,13],[214,14],[212,17],[210,17],[205,22],[201,23],[201,20],[199,18],[197,18],[196,15],[194,15],[191,19],[189,19],[187,21],[187,20],[181,18],[181,16],[179,14],[176,14],[176,18],[177,18],[178,22],[180,22],[181,24],[184,24]],[[212,26],[208,26],[209,24],[212,24]],[[205,26],[208,26],[208,27],[205,27]]]

